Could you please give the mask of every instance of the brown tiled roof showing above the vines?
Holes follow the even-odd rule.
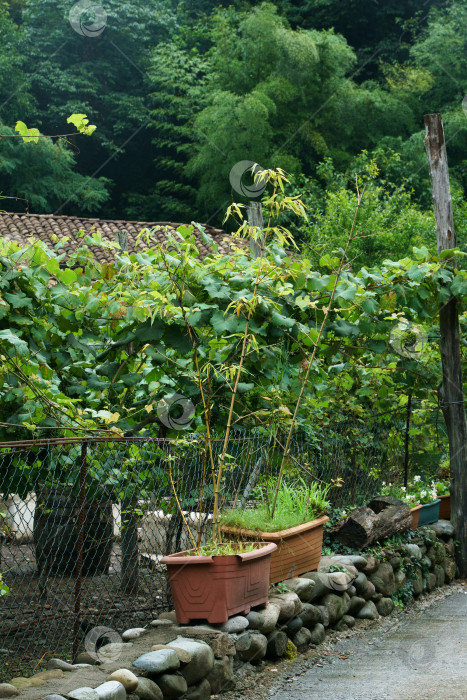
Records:
[[[17,241],[22,245],[29,243],[31,237],[43,241],[47,246],[53,248],[55,242],[52,236],[55,234],[59,238],[69,237],[65,245],[65,251],[69,254],[73,250],[84,244],[78,232],[83,230],[86,235],[95,231],[100,231],[103,238],[116,241],[117,234],[122,231],[128,232],[128,251],[134,253],[137,250],[144,250],[145,244],[140,241],[136,244],[136,238],[143,228],[156,228],[155,238],[164,243],[167,233],[164,228],[168,226],[174,231],[180,224],[170,221],[118,221],[105,219],[82,219],[76,216],[54,216],[53,214],[13,214],[0,213],[0,236],[7,240]],[[205,232],[214,239],[219,246],[219,252],[228,253],[232,244],[232,239],[222,230],[205,226]],[[197,246],[202,257],[206,256],[210,249],[203,242],[201,233],[195,229]],[[154,242],[153,245],[156,245]],[[94,248],[94,253],[101,262],[110,261],[113,258],[111,250],[106,248]]]

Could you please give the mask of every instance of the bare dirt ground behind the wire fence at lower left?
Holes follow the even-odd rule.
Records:
[[[121,551],[112,550],[108,574],[84,577],[81,589],[78,641],[86,626],[103,625],[122,630],[147,624],[167,609],[164,572],[141,561],[139,586],[126,593],[120,589]],[[41,587],[32,545],[2,548],[2,569],[10,593],[0,599],[0,682],[30,675],[46,667],[48,659],[71,660],[75,620],[76,580],[73,576],[50,576]]]

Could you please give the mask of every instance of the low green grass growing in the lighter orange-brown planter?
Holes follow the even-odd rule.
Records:
[[[254,508],[237,507],[224,510],[222,525],[245,530],[279,532],[302,523],[315,520],[329,507],[326,500],[330,486],[307,485],[303,479],[283,482],[280,486],[274,517],[271,516],[271,503],[276,481],[270,479],[257,489],[259,503]]]

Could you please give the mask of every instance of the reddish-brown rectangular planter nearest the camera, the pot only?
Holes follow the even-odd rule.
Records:
[[[271,554],[277,545],[257,542],[252,552],[209,557],[189,552],[169,554],[167,565],[177,621],[226,622],[267,603]]]

